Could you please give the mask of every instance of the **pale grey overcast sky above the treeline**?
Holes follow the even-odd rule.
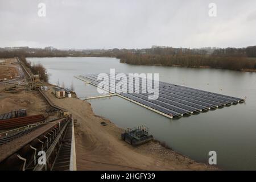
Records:
[[[46,16],[38,16],[38,4]],[[210,17],[209,3],[217,16]],[[255,0],[0,0],[0,47],[256,45]]]

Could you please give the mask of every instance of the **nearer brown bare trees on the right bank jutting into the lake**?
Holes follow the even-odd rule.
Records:
[[[121,63],[137,65],[164,65],[180,67],[208,67],[220,69],[256,69],[255,59],[242,56],[213,55],[135,55],[123,53],[117,56]]]

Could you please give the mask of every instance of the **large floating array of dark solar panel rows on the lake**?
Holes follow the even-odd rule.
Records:
[[[144,78],[146,79],[146,82],[144,82],[142,81],[142,78],[139,77],[129,77],[129,75],[125,74],[124,76],[126,76],[127,79],[122,80],[117,79],[117,77],[112,78],[110,75],[105,75],[104,80],[98,80],[97,74],[87,74],[79,76],[78,78],[88,81],[94,86],[97,86],[100,82],[108,84],[108,87],[105,88],[106,91],[118,93],[119,97],[135,102],[136,104],[169,118],[200,113],[201,111],[217,109],[218,107],[230,106],[245,101],[242,98],[224,96],[222,94],[168,84],[161,81],[159,81],[158,86],[155,87],[154,80],[147,80],[147,78]],[[133,80],[133,85],[129,85],[129,79]],[[122,83],[121,89],[116,86],[118,83],[119,85]],[[125,90],[132,90],[133,92],[122,92],[124,86],[126,86]],[[147,93],[148,87],[153,90],[159,90],[157,99],[148,99],[148,96],[152,95],[152,93]]]

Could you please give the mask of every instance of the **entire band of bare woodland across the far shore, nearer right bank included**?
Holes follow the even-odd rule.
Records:
[[[172,48],[152,46],[146,49],[60,50],[46,48],[0,48],[0,57],[117,57],[121,63],[196,68],[220,68],[238,71],[256,70],[256,46],[246,48]]]

